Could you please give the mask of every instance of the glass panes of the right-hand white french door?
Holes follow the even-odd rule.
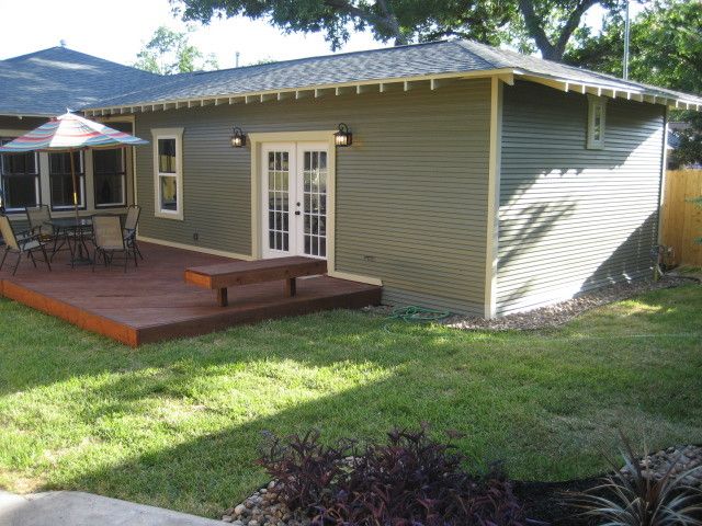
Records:
[[[303,155],[303,245],[304,253],[327,255],[326,203],[327,152],[305,151]]]

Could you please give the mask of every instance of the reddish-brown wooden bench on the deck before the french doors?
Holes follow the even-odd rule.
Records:
[[[327,273],[327,262],[314,258],[292,256],[272,260],[236,261],[185,268],[185,282],[217,290],[217,304],[228,305],[227,287],[285,281],[285,296],[297,293],[296,278]]]

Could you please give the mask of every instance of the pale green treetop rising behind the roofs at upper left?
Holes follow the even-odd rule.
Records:
[[[188,73],[196,70],[216,69],[214,55],[204,56],[191,45],[186,32],[178,32],[160,26],[151,39],[137,54],[134,67],[158,75]]]

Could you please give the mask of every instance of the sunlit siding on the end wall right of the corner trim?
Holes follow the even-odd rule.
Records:
[[[503,101],[498,315],[646,274],[664,110],[610,100],[588,150],[585,95],[517,82]]]

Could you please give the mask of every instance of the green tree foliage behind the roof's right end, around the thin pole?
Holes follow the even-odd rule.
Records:
[[[611,16],[598,36],[576,35],[578,45],[565,59],[589,69],[621,76],[624,23]],[[656,0],[631,25],[630,77],[671,90],[702,93],[702,2]],[[690,127],[680,135],[673,165],[702,162],[702,115],[675,112],[672,119]]]

